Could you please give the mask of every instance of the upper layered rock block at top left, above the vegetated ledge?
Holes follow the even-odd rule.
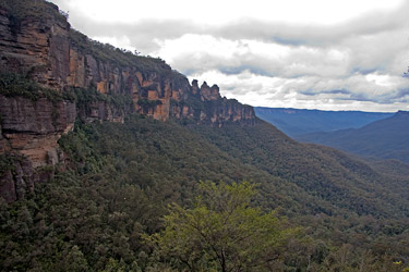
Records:
[[[69,75],[70,24],[47,7],[56,16],[17,16],[0,7],[0,69],[59,88]]]

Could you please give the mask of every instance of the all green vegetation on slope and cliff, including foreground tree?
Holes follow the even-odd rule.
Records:
[[[49,2],[0,5],[13,32],[26,16],[65,22]],[[183,77],[160,59],[69,35],[103,61]],[[258,119],[160,122],[128,114],[134,104],[122,92],[32,79],[1,73],[0,95],[69,100],[85,116],[100,101],[127,114],[123,124],[79,114],[59,139],[60,162],[35,170],[47,178],[16,201],[0,199],[1,271],[409,271],[407,164],[300,144]],[[205,110],[229,101],[171,103]],[[0,154],[0,177],[23,160]]]

